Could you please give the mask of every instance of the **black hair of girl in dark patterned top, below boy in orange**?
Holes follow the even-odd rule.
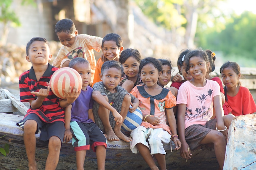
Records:
[[[129,58],[129,57],[134,57],[138,63],[140,63],[141,61],[141,55],[140,55],[140,51],[137,49],[133,49],[133,48],[127,48],[124,51],[122,51],[120,57],[119,57],[119,62],[121,64],[124,64],[124,62]]]

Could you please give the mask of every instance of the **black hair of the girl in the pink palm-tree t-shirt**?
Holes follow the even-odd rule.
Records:
[[[209,62],[208,60],[208,56],[206,54],[205,51],[203,51],[202,49],[197,49],[197,50],[192,50],[190,51],[187,55],[186,55],[186,59],[185,59],[185,63],[186,63],[186,72],[189,73],[189,59],[191,57],[200,57],[201,59],[203,59],[206,64]],[[209,68],[207,68],[207,73],[209,73],[211,70],[211,65],[209,66]]]

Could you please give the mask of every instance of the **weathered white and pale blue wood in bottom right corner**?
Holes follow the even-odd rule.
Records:
[[[228,131],[224,170],[256,169],[256,114],[237,116]]]

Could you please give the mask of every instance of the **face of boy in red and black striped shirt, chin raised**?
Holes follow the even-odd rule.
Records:
[[[47,65],[52,58],[50,47],[43,41],[34,41],[29,47],[29,55],[26,60],[35,65]]]

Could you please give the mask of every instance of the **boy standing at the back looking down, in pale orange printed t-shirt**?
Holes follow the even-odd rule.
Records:
[[[89,84],[91,86],[96,67],[93,50],[100,51],[102,38],[87,34],[78,34],[74,22],[68,18],[59,20],[56,23],[55,33],[63,46],[53,60],[53,66],[59,68],[68,67],[69,62],[73,58],[85,58],[91,65],[91,82]]]

